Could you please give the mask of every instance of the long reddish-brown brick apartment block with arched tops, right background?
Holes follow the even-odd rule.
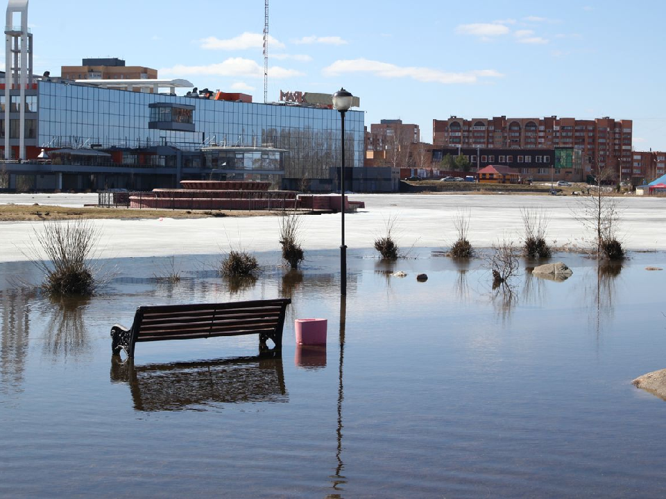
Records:
[[[570,147],[582,151],[583,175],[610,168],[619,177],[631,175],[631,120],[608,116],[593,120],[575,118],[463,119],[451,116],[432,121],[435,147],[541,148]],[[582,180],[582,179],[581,179]]]

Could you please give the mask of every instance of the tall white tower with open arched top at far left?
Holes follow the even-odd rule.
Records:
[[[15,15],[19,24],[14,22]],[[10,112],[19,118],[19,159],[26,158],[26,87],[32,78],[33,35],[28,33],[28,0],[9,0],[5,23],[5,159],[11,159]],[[12,108],[12,89],[20,89],[18,111]]]

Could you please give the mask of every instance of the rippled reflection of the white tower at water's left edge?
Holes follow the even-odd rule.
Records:
[[[23,390],[33,290],[0,291],[0,391]]]

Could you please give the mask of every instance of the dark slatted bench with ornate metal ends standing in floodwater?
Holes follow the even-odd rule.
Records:
[[[111,349],[134,358],[137,342],[189,340],[216,336],[259,335],[259,354],[282,351],[282,328],[289,298],[218,304],[139,306],[130,329],[111,328]],[[269,349],[266,340],[275,345]]]

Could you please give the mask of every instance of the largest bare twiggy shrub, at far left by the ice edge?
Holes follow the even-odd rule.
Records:
[[[44,276],[42,290],[53,297],[92,295],[98,284],[92,252],[100,236],[90,220],[46,222],[42,233],[35,230],[26,256]]]

